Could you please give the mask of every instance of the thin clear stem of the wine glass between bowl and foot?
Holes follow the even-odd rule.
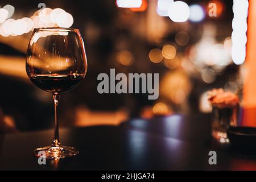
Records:
[[[60,100],[59,93],[53,93],[53,101],[54,101],[54,110],[55,110],[55,122],[54,122],[54,139],[52,142],[52,147],[60,146],[59,139],[59,116],[58,116],[58,105]]]

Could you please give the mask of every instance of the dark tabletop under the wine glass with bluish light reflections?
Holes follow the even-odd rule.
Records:
[[[80,150],[75,158],[47,160],[32,154],[47,146],[52,130],[0,136],[1,170],[256,170],[256,155],[240,154],[210,139],[209,115],[131,119],[121,126],[61,129],[61,142]],[[208,163],[217,152],[217,165]]]

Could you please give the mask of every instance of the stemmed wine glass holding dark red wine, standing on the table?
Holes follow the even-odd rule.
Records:
[[[73,147],[61,146],[57,106],[60,94],[72,90],[85,77],[87,61],[79,30],[72,28],[35,28],[27,49],[26,71],[40,89],[53,94],[55,136],[51,146],[36,148],[34,154],[60,159],[79,154]]]

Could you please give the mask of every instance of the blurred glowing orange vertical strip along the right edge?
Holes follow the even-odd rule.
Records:
[[[243,88],[244,110],[242,117],[243,126],[256,127],[256,1],[249,1],[249,17],[246,45],[245,75]]]

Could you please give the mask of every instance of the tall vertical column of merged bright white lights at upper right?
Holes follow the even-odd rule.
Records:
[[[246,42],[247,42],[247,15],[248,15],[248,0],[234,0],[232,21],[232,59],[237,65],[242,64],[246,57]]]

